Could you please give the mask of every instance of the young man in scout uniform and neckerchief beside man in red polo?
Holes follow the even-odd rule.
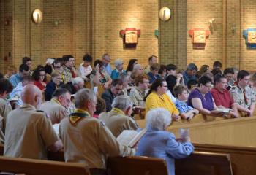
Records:
[[[249,88],[249,72],[239,71],[237,75],[238,85],[230,90],[231,96],[237,105],[238,111],[245,112],[247,116],[252,116],[255,112],[255,96]]]

